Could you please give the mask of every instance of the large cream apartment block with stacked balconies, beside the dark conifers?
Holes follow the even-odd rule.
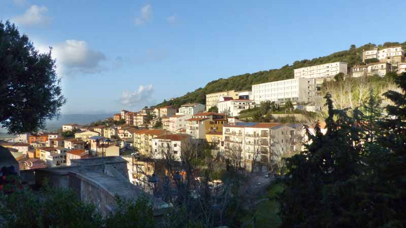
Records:
[[[301,125],[236,123],[223,126],[224,155],[247,170],[268,169],[273,160],[300,150]],[[273,157],[274,154],[274,157]]]

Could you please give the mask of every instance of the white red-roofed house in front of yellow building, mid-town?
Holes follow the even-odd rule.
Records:
[[[189,135],[164,134],[152,139],[152,157],[154,159],[173,158],[180,162],[186,149]]]

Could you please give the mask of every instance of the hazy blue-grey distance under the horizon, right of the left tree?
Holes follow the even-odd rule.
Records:
[[[112,114],[61,114],[58,120],[50,120],[46,123],[44,131],[56,131],[62,128],[63,124],[89,124],[98,120],[105,120],[106,118],[113,117]],[[6,137],[7,130],[0,129],[0,137]]]

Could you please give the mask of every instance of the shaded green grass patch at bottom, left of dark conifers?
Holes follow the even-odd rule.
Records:
[[[283,191],[283,185],[272,184],[266,190],[266,194],[261,198],[268,198],[268,201],[259,203],[253,210],[255,213],[255,227],[257,228],[277,228],[281,225],[281,219],[278,215],[279,203],[274,199],[278,193]],[[251,215],[247,215],[246,219],[251,219]]]

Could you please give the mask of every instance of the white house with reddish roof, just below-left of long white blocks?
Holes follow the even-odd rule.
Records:
[[[221,113],[227,113],[230,117],[240,115],[240,111],[255,107],[254,101],[249,99],[232,99],[232,97],[220,97],[218,109]]]

